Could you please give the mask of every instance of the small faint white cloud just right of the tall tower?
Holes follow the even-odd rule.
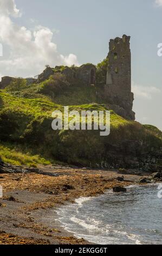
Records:
[[[153,94],[158,94],[160,93],[160,89],[150,86],[150,87],[145,87],[140,84],[135,84],[134,82],[132,83],[132,92],[134,93],[135,97],[140,97],[144,98],[147,100],[152,99]]]

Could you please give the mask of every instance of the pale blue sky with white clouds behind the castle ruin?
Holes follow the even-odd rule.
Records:
[[[109,39],[131,35],[133,109],[138,121],[162,130],[162,57],[157,55],[161,0],[0,0],[1,4],[2,76],[37,75],[46,64],[97,64],[107,56]],[[47,51],[40,54],[46,45]]]

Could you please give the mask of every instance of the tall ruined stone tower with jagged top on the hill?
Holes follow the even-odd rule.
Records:
[[[109,42],[105,98],[114,110],[131,120],[134,95],[131,92],[131,50],[130,36],[111,39]]]

